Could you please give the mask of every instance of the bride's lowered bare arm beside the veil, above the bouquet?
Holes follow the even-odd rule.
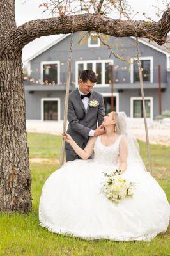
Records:
[[[123,136],[120,140],[120,148],[119,148],[119,170],[121,170],[120,174],[125,172],[127,169],[127,157],[128,157],[128,142],[127,138]]]

